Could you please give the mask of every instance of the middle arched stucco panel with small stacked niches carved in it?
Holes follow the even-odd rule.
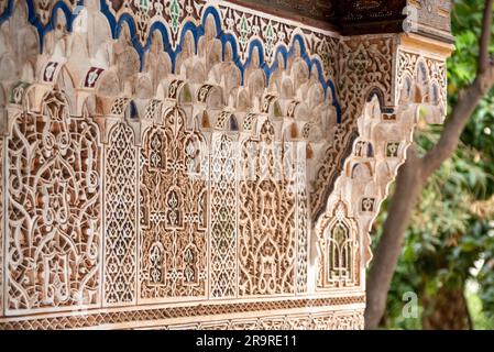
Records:
[[[140,298],[206,295],[207,188],[204,139],[186,132],[179,108],[144,135],[141,155]]]

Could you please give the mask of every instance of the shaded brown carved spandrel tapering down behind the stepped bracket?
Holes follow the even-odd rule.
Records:
[[[373,89],[377,89],[384,107],[394,105],[393,99],[393,57],[396,43],[393,36],[353,37],[340,45],[339,96],[345,102],[342,123],[334,132],[333,142],[323,153],[318,166],[315,187],[311,193],[312,217],[320,216],[326,199],[334,188],[340,176],[338,167],[350,154],[349,146],[356,138],[356,119]]]

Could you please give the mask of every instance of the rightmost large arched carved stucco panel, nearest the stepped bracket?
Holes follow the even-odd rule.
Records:
[[[274,142],[270,121],[261,129],[261,141],[248,140],[243,144],[240,296],[295,293],[295,195],[284,166],[286,160],[282,145]],[[252,169],[253,178],[249,177]]]

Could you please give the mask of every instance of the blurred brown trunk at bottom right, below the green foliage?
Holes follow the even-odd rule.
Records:
[[[426,330],[471,330],[472,321],[464,286],[443,286],[433,297],[422,299],[422,327]]]

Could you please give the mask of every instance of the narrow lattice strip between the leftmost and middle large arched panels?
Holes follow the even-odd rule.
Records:
[[[135,302],[136,147],[133,130],[119,123],[106,153],[105,301]]]

